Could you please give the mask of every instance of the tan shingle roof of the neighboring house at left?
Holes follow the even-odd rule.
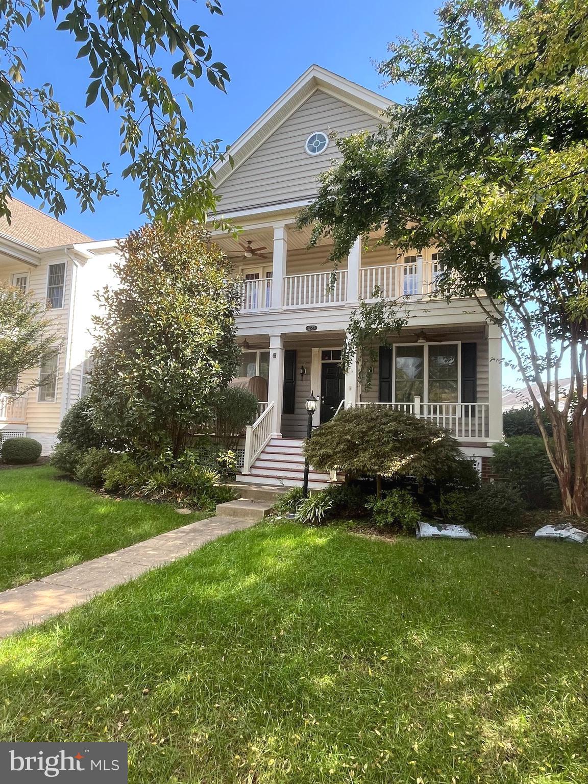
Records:
[[[72,229],[56,220],[45,212],[41,212],[34,207],[25,204],[19,199],[11,199],[9,202],[11,223],[2,217],[0,218],[0,233],[6,234],[34,248],[53,248],[56,245],[70,245],[72,242],[88,242],[92,238],[81,231]]]

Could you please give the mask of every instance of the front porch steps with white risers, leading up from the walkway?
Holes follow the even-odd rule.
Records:
[[[238,482],[270,485],[274,488],[302,487],[304,481],[304,455],[302,439],[272,438],[252,464],[249,474],[238,474]],[[343,477],[333,481],[329,474],[315,471],[310,466],[308,487],[321,490],[338,484]]]

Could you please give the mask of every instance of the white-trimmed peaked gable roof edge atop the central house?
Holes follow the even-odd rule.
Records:
[[[231,167],[230,162],[224,161],[217,162],[212,167],[212,171],[216,175],[215,187],[219,187],[224,180],[227,180],[318,89],[343,100],[344,103],[349,103],[373,118],[379,118],[383,111],[394,106],[394,101],[380,96],[372,90],[350,82],[332,71],[327,71],[320,65],[311,65],[230,146],[229,152],[234,165]]]

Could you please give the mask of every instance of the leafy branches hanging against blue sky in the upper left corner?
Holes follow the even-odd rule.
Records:
[[[221,14],[219,0],[207,0]],[[203,74],[225,90],[227,68],[212,57],[199,24],[187,20],[195,3],[180,0],[0,0],[0,216],[10,217],[9,197],[21,188],[59,217],[65,191],[82,210],[114,193],[109,167],[92,171],[74,148],[82,117],[61,107],[53,86],[27,81],[22,34],[45,12],[57,30],[74,36],[88,72],[86,105],[100,100],[121,119],[122,176],[139,183],[143,212],[166,220],[181,213],[205,223],[214,208],[210,165],[223,157],[219,140],[194,141],[180,93]],[[184,88],[185,89],[185,88]]]

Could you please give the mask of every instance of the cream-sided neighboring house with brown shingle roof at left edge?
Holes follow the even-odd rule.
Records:
[[[44,379],[41,387],[13,397],[0,390],[0,442],[26,434],[53,448],[60,420],[89,380],[89,334],[97,303],[94,292],[113,279],[115,241],[95,242],[23,201],[14,199],[12,220],[0,221],[0,277],[46,303],[59,354],[18,383]]]

